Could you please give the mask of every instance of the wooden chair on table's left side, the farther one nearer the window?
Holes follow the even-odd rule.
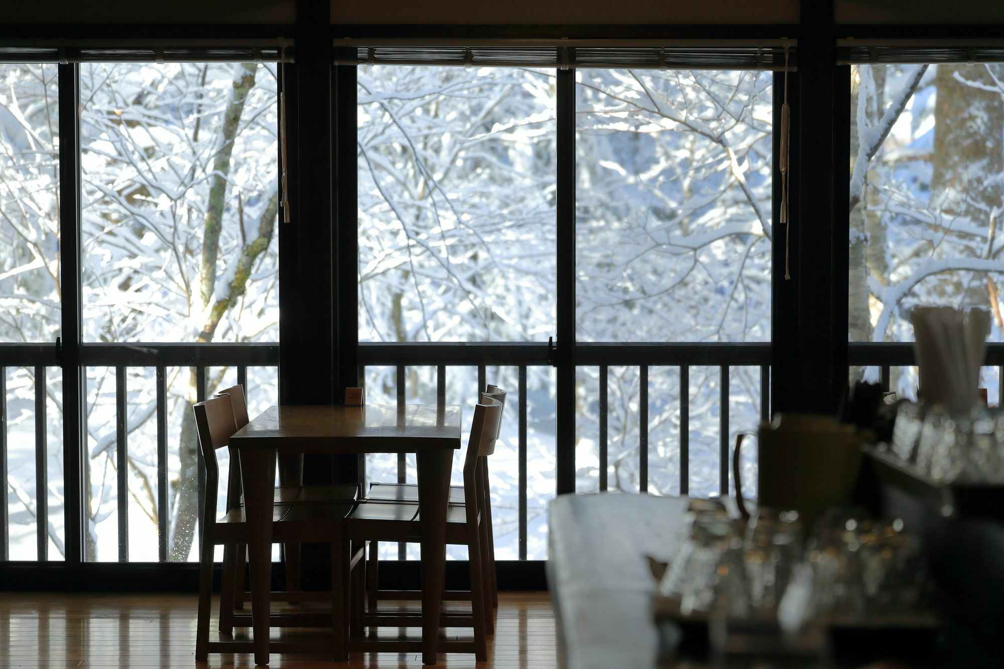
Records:
[[[230,397],[230,404],[234,412],[234,423],[237,429],[247,425],[248,418],[247,400],[244,395],[244,388],[241,385],[231,386],[218,391],[213,397]],[[282,458],[280,458],[281,460]],[[303,486],[299,483],[299,476],[290,476],[290,467],[279,467],[279,486],[275,489],[273,501],[283,504],[305,504],[305,503],[331,503],[331,502],[354,502],[358,498],[358,486],[354,483],[334,484],[334,485],[311,485]],[[288,479],[293,478],[294,481]],[[241,468],[240,463],[233,451],[230,452],[230,469],[227,477],[227,508],[231,508],[235,503],[244,503],[244,496],[241,490]],[[300,589],[300,554],[299,544],[283,544],[282,552],[286,572],[286,593],[276,593],[275,599],[290,603],[299,602],[304,598],[311,598],[312,595],[293,595]],[[234,546],[225,545],[223,548],[223,569],[224,572],[232,571],[234,574],[233,607],[237,610],[244,608],[244,603],[250,599],[250,593],[244,590],[245,575],[247,573],[247,546],[237,544]],[[289,599],[292,597],[292,599]],[[224,613],[225,603],[220,600],[220,632],[230,634],[232,627],[227,625],[229,617]]]

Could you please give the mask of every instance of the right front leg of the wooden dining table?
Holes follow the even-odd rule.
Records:
[[[446,569],[446,513],[453,450],[418,454],[419,521],[422,531],[422,663],[436,664],[440,606]]]

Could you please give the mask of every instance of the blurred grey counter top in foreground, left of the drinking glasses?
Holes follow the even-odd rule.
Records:
[[[645,556],[667,556],[688,502],[608,493],[551,502],[547,582],[564,667],[656,666],[656,582]]]

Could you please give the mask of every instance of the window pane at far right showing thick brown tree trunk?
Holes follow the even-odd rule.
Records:
[[[851,69],[849,341],[913,341],[918,304],[986,308],[1004,341],[1002,81],[996,63]]]

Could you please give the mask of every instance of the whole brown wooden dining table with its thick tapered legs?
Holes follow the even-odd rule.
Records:
[[[446,567],[446,517],[461,409],[449,405],[273,406],[230,439],[241,463],[251,538],[255,663],[268,663],[272,497],[276,455],[415,453],[422,534],[422,661],[436,664]]]

